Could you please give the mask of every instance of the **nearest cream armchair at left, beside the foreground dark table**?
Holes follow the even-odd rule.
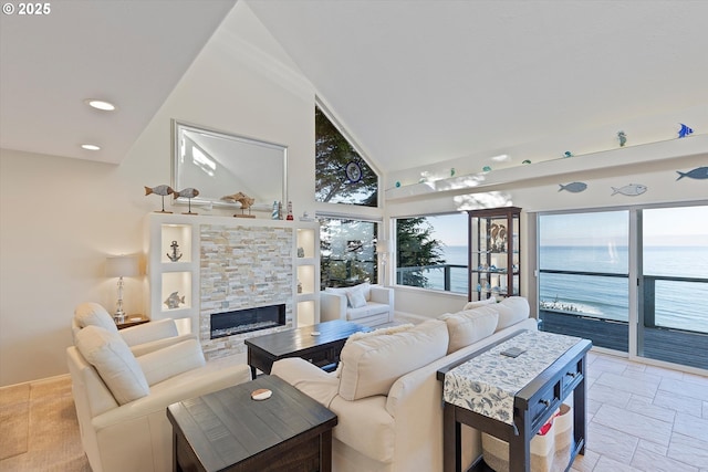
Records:
[[[98,326],[76,333],[66,359],[93,472],[171,472],[167,407],[251,378],[229,358],[207,364],[197,339],[135,357],[122,336]]]

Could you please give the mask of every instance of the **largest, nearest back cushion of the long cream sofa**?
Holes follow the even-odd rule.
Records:
[[[447,325],[439,319],[347,343],[341,354],[340,396],[353,401],[387,395],[398,377],[445,356],[447,346]]]

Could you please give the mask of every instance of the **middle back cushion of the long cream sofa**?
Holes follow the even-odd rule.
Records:
[[[481,306],[439,317],[447,324],[450,343],[447,354],[491,336],[497,329],[499,312],[491,306]]]

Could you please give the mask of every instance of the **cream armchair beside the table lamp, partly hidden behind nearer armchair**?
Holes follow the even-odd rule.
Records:
[[[71,324],[74,344],[76,343],[76,334],[86,326],[100,326],[111,333],[119,334],[135,356],[197,338],[194,334],[180,335],[177,331],[177,324],[169,318],[118,331],[106,308],[93,302],[82,303],[74,310]]]

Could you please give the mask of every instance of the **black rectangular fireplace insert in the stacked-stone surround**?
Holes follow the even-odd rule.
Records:
[[[284,325],[285,304],[212,313],[210,339]]]

